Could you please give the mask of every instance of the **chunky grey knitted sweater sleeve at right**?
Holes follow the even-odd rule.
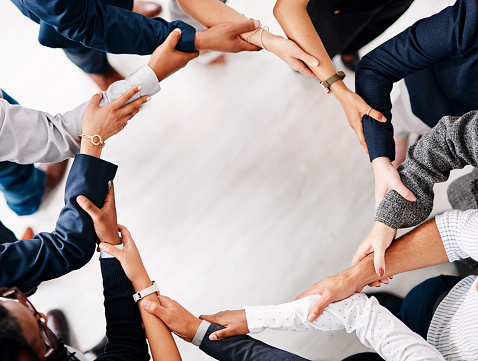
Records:
[[[407,159],[398,168],[403,184],[417,200],[409,202],[392,190],[380,203],[375,220],[395,229],[425,221],[433,208],[433,185],[446,181],[453,169],[476,167],[477,160],[478,111],[443,117],[410,147]]]

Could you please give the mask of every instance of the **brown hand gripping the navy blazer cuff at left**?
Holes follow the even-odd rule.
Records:
[[[106,193],[105,203],[101,209],[95,206],[93,202],[85,196],[76,197],[76,201],[93,220],[93,226],[95,227],[95,232],[100,242],[111,244],[121,243],[118,235],[115,191],[113,186],[111,186],[108,193]]]

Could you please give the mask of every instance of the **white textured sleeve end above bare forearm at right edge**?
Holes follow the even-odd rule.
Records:
[[[478,260],[478,209],[452,210],[435,217],[450,262]]]

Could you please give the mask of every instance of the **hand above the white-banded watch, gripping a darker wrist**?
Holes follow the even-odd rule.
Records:
[[[117,230],[121,232],[121,242],[123,243],[123,249],[118,249],[113,247],[109,243],[100,243],[99,247],[106,253],[115,257],[121,263],[124,273],[129,278],[134,288],[138,291],[144,289],[145,286],[151,286],[151,281],[144,268],[143,261],[141,260],[141,255],[139,254],[138,248],[136,247],[131,233],[128,229],[120,224],[116,227]],[[141,285],[136,287],[138,284]]]

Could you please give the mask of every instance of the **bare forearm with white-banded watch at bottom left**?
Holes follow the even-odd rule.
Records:
[[[149,278],[146,270],[133,280],[133,287],[135,292],[144,290],[151,286],[151,279]],[[150,302],[159,303],[156,293],[152,293],[144,298]],[[140,300],[139,303],[143,302]],[[180,361],[181,356],[179,354],[176,343],[174,342],[171,331],[158,317],[144,310],[139,304],[139,311],[141,318],[143,319],[144,329],[146,331],[146,337],[149,341],[149,347],[154,361]]]

